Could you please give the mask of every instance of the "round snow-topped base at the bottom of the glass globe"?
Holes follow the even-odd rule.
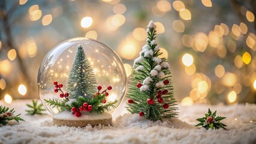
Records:
[[[88,113],[83,112],[81,116],[76,117],[71,112],[59,112],[53,116],[53,124],[67,127],[86,127],[88,124],[91,126],[96,125],[112,125],[112,115],[108,112]]]

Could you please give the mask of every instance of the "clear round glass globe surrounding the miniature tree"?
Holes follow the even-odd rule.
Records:
[[[59,93],[54,92],[54,81],[62,83],[62,91],[66,92],[66,82],[79,44],[82,45],[85,55],[93,68],[97,80],[96,86],[100,85],[102,89],[112,86],[112,90],[108,91],[109,96],[106,97],[106,100],[118,100],[115,105],[118,107],[126,94],[126,72],[123,62],[117,53],[99,41],[88,38],[72,38],[63,41],[50,50],[44,57],[38,71],[37,85],[40,100],[44,107],[53,115],[60,110],[47,105],[44,100],[52,100],[52,98],[61,99]],[[113,111],[114,109],[111,109],[111,112]]]

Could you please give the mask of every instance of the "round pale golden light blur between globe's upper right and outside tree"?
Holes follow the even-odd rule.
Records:
[[[121,56],[124,59],[133,59],[136,56],[136,48],[133,44],[126,44],[121,47]]]

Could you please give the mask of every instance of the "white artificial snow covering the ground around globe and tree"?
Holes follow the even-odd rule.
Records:
[[[178,118],[171,121],[148,121],[138,115],[124,114],[116,118],[112,127],[57,127],[52,115],[25,115],[26,103],[16,100],[0,105],[14,108],[22,113],[25,122],[0,127],[0,143],[256,143],[256,105],[234,104],[210,106],[217,115],[226,116],[225,130],[205,130],[194,127],[195,119],[207,113],[206,105],[179,106]],[[123,112],[124,106],[117,111]]]

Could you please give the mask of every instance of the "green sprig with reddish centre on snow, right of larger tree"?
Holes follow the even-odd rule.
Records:
[[[222,116],[215,117],[216,113],[217,111],[212,113],[212,111],[208,109],[208,113],[205,113],[204,114],[205,116],[203,118],[197,119],[197,121],[199,121],[200,123],[195,125],[195,127],[202,126],[206,128],[206,130],[208,130],[209,128],[212,128],[212,129],[224,128],[224,130],[227,130],[225,128],[227,127],[227,125],[220,122],[221,120],[225,119],[225,117],[222,117]]]

